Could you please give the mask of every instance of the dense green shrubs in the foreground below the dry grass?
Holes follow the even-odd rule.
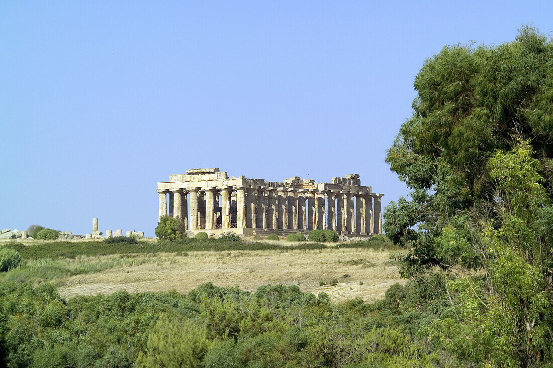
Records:
[[[65,300],[48,284],[3,282],[0,343],[9,367],[445,365],[410,332],[424,313],[390,313],[398,294],[382,305],[335,305],[296,286],[249,293],[208,283],[188,295]]]

